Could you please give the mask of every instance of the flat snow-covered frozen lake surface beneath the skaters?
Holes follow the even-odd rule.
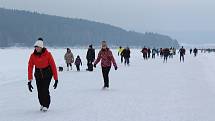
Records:
[[[176,55],[168,63],[160,57],[144,61],[131,50],[131,65],[120,63],[110,72],[110,89],[102,90],[99,66],[86,72],[84,49],[72,50],[83,60],[81,72],[59,72],[59,86],[51,83],[51,106],[39,111],[35,81],[27,89],[27,62],[32,49],[0,49],[1,121],[214,121],[215,53]],[[51,49],[58,66],[65,50]],[[98,50],[96,50],[98,53]],[[74,67],[74,66],[73,66]]]

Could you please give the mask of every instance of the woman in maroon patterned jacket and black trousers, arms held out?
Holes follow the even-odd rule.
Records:
[[[109,88],[109,72],[111,69],[111,63],[114,65],[114,69],[117,70],[117,65],[111,50],[107,47],[106,41],[102,41],[102,49],[99,51],[98,57],[94,63],[94,67],[101,60],[102,75],[104,78],[103,89]]]

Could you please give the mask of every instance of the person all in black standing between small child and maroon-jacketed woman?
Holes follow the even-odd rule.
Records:
[[[89,45],[89,48],[87,50],[87,71],[93,71],[93,62],[95,60],[95,49],[92,45]]]

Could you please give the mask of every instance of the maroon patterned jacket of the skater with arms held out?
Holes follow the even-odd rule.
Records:
[[[94,64],[98,64],[101,60],[101,66],[102,67],[111,67],[111,62],[113,63],[114,67],[116,67],[116,62],[114,60],[112,52],[107,49],[101,49],[99,51],[98,57]]]

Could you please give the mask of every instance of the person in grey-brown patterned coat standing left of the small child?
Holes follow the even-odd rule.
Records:
[[[69,66],[70,66],[70,69],[72,70],[72,63],[74,62],[74,56],[73,56],[72,51],[69,48],[66,49],[64,59],[66,61],[66,65],[67,65],[67,71],[69,71]]]

